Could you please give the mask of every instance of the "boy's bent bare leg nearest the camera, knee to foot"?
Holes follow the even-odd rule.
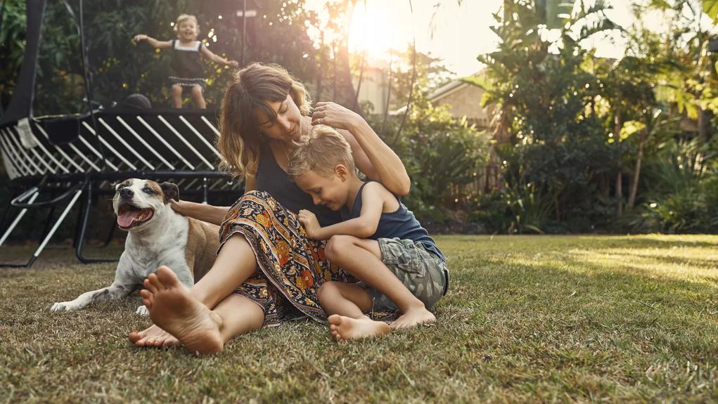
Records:
[[[376,288],[396,304],[402,315],[391,324],[392,327],[413,327],[436,320],[424,303],[416,299],[404,283],[386,268],[381,260],[378,241],[335,235],[327,243],[325,253],[331,263]]]

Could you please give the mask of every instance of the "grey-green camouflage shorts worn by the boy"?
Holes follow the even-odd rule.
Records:
[[[426,309],[431,309],[444,296],[447,286],[447,264],[429,253],[421,244],[399,238],[380,238],[381,260]],[[398,307],[383,293],[363,282],[357,283],[371,296],[372,311],[396,311]]]

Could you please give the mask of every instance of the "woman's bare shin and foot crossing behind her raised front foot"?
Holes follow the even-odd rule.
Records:
[[[214,309],[256,270],[252,248],[247,239],[237,233],[224,243],[212,269],[190,288],[190,294],[208,309]],[[129,339],[138,347],[169,347],[179,343],[156,325],[141,332],[130,332]]]

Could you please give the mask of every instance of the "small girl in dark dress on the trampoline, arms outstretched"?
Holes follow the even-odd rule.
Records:
[[[174,24],[174,32],[177,32],[177,39],[171,41],[158,41],[145,34],[136,35],[135,42],[147,41],[150,46],[160,49],[172,50],[172,63],[170,64],[169,83],[172,85],[172,106],[182,108],[182,89],[190,88],[192,100],[197,108],[207,108],[202,92],[207,84],[205,74],[200,63],[200,55],[220,65],[239,67],[236,60],[226,60],[215,55],[202,42],[197,41],[200,34],[200,27],[197,25],[197,18],[190,14],[181,14]]]

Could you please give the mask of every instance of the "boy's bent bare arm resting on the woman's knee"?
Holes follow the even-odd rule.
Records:
[[[299,211],[299,222],[302,222],[307,230],[309,238],[314,240],[326,240],[332,235],[343,234],[353,235],[357,238],[368,238],[376,232],[379,225],[379,218],[384,207],[384,197],[381,191],[381,184],[370,183],[364,186],[361,195],[361,213],[359,217],[339,222],[335,225],[320,227],[317,217],[308,210]]]

